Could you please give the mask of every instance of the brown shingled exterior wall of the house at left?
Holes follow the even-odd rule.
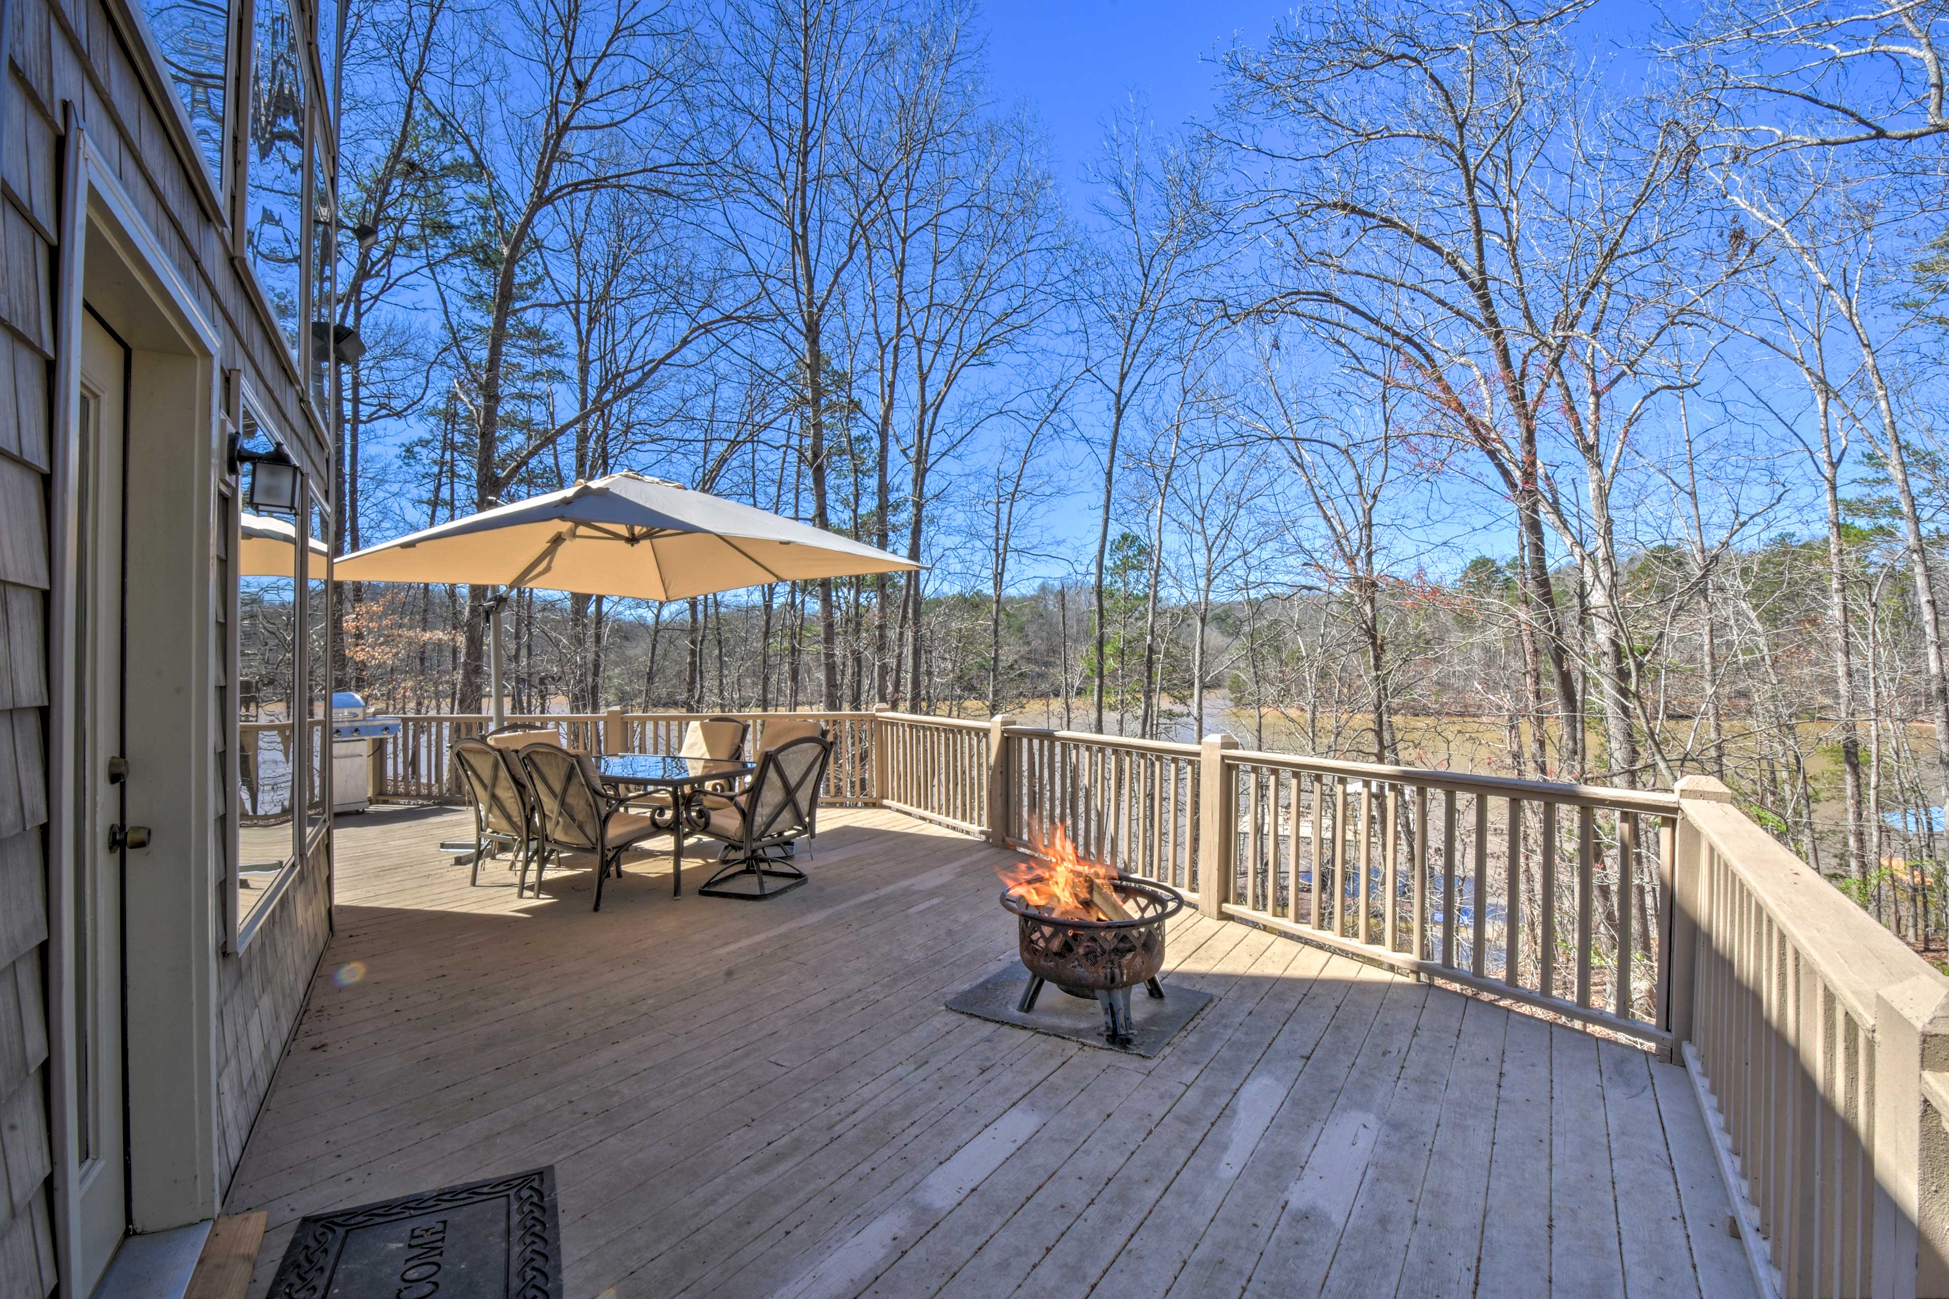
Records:
[[[232,6],[232,43],[248,33],[248,6]],[[329,446],[306,413],[304,384],[246,265],[234,255],[234,193],[218,191],[185,154],[175,105],[121,0],[0,0],[0,1299],[51,1293],[57,1270],[49,1083],[49,502],[55,489],[53,376],[60,232],[76,228],[60,206],[64,123],[78,121],[121,187],[214,321],[226,403],[248,382],[294,438],[294,452],[329,481]],[[232,55],[230,88],[244,107],[244,58]],[[232,115],[236,117],[236,115]],[[240,130],[230,129],[242,154]],[[226,210],[228,208],[228,210]],[[210,430],[212,436],[222,430]],[[131,436],[142,436],[133,430]],[[187,508],[187,506],[185,506]],[[209,526],[205,526],[210,532]],[[212,549],[212,573],[220,555]],[[131,576],[142,559],[131,557]],[[228,578],[234,580],[234,578]],[[222,604],[218,602],[218,608]],[[212,627],[218,680],[228,686],[236,641]],[[212,888],[234,853],[230,804],[236,777],[236,707],[212,701],[222,740],[210,754],[218,849],[189,863]],[[329,927],[329,837],[277,900],[277,911],[234,954],[210,933],[216,1024],[210,1077],[218,1174],[226,1184],[300,1013]]]

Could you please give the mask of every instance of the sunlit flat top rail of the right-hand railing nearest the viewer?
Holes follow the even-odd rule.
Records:
[[[1949,991],[1949,978],[1842,898],[1737,806],[1686,798],[1684,810],[1785,939],[1863,1024],[1877,1021],[1875,997],[1885,987],[1922,976]]]

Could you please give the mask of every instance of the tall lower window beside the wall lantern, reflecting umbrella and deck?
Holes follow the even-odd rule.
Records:
[[[249,413],[244,446],[273,442]],[[292,721],[298,699],[296,547],[251,547],[249,534],[273,538],[285,520],[244,514],[246,545],[238,563],[238,921],[265,900],[292,861],[292,775],[300,769]],[[285,532],[288,536],[288,532]],[[255,555],[255,557],[253,557]]]

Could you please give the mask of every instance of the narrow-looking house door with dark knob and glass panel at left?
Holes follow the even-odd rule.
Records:
[[[82,319],[74,578],[74,1108],[80,1118],[80,1285],[101,1278],[129,1227],[123,1108],[123,460],[129,349]]]

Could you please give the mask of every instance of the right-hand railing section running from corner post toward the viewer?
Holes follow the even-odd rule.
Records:
[[[1711,779],[1678,785],[1674,1024],[1783,1295],[1949,1295],[1949,980]]]

